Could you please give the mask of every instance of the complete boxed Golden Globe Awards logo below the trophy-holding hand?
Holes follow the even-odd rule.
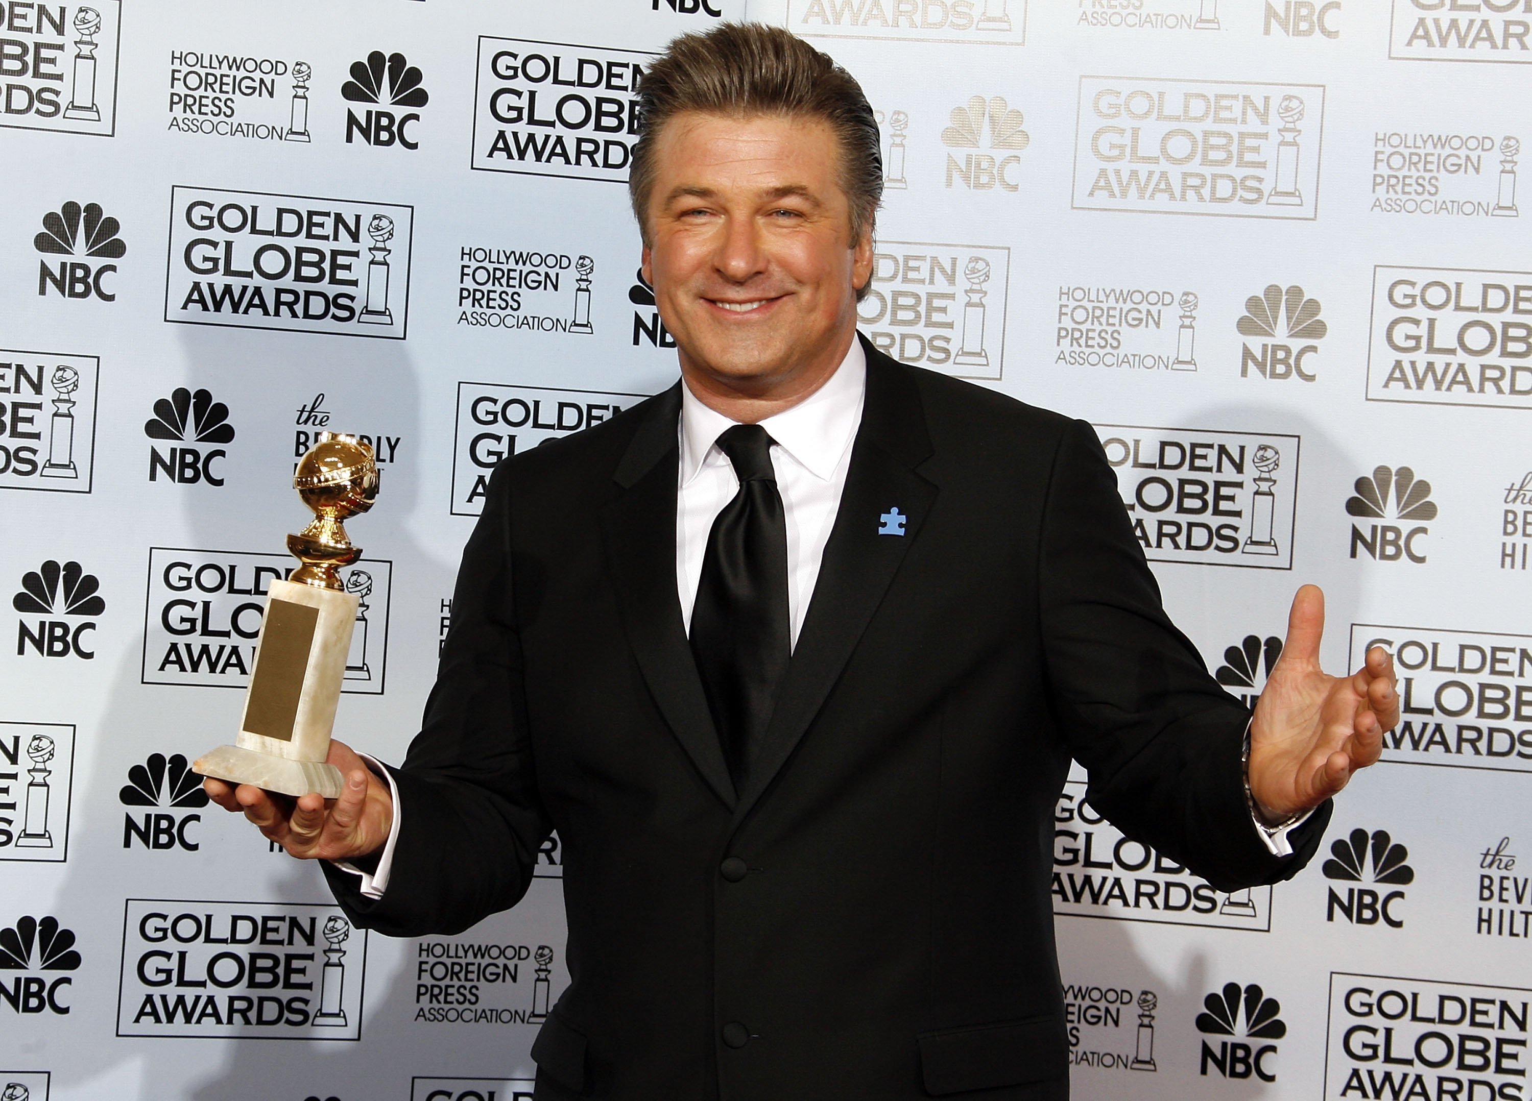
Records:
[[[357,1040],[366,939],[336,905],[127,899],[116,1035]]]

